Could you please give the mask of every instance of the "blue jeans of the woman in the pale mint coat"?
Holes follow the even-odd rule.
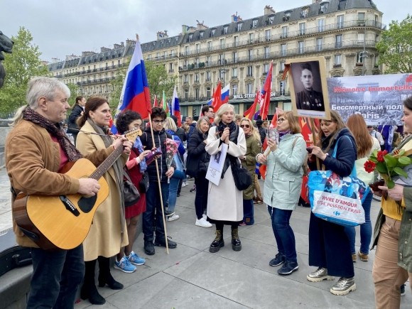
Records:
[[[298,263],[295,234],[289,224],[292,210],[280,210],[268,205],[268,211],[271,215],[273,234],[275,234],[279,253],[285,256],[286,261]]]

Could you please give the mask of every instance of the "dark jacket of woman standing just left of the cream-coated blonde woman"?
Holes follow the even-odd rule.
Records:
[[[205,150],[207,133],[202,134],[195,130],[188,141],[188,158],[186,161],[186,174],[197,177],[197,173],[207,172],[210,154]]]

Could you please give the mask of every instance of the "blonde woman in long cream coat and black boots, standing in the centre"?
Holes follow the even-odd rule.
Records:
[[[211,156],[222,150],[223,143],[227,145],[227,155],[219,185],[209,182],[207,196],[207,220],[216,224],[216,237],[210,244],[209,251],[214,253],[224,246],[224,224],[232,226],[232,249],[240,251],[242,244],[239,239],[238,227],[243,219],[242,191],[234,185],[231,161],[239,161],[246,154],[246,139],[244,131],[234,122],[234,107],[223,104],[215,116],[216,126],[212,126],[207,136],[206,151]]]

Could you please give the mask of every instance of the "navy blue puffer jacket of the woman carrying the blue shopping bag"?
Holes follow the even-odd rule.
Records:
[[[348,136],[349,139],[343,136]],[[329,141],[331,138],[332,136],[327,136],[325,137],[325,139],[322,140],[323,151],[325,151],[327,145],[329,145]],[[325,161],[320,163],[325,165],[325,170],[332,170],[341,177],[349,176],[350,173],[352,173],[354,161],[357,160],[356,141],[354,141],[354,137],[347,128],[343,128],[342,130],[340,130],[337,134],[335,134],[333,139],[334,141],[332,142],[332,145],[327,151],[328,156],[325,158]],[[333,150],[335,149],[337,140],[339,140],[339,143],[337,143],[336,158],[332,158]],[[308,166],[310,170],[318,169],[316,167],[315,161],[308,161]]]

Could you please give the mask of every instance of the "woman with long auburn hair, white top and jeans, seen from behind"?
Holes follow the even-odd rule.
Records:
[[[367,161],[367,158],[374,151],[374,137],[370,136],[367,129],[367,123],[364,121],[364,117],[361,114],[353,114],[349,116],[346,121],[347,128],[352,132],[354,140],[357,145],[357,161],[355,162],[357,169],[357,177],[362,180],[367,185],[374,182],[374,174],[367,173],[364,170],[364,163]],[[377,141],[377,140],[376,140]],[[381,150],[379,142],[377,144],[377,150]],[[356,237],[356,231],[354,227],[347,227],[346,233],[349,237],[352,260],[357,261],[357,255],[361,261],[368,261],[369,254],[369,245],[371,244],[372,239],[372,223],[371,223],[371,204],[372,196],[374,194],[370,191],[365,197],[362,207],[365,212],[365,222],[360,226],[360,235],[361,235],[361,246],[359,252],[356,253],[354,249],[354,240]]]

